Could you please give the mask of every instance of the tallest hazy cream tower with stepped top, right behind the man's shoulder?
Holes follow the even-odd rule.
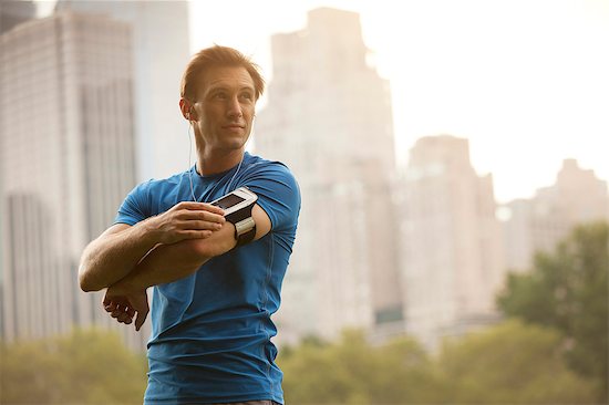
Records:
[[[389,83],[367,63],[358,13],[320,8],[271,38],[272,82],[256,152],[286,163],[301,188],[280,336],[336,336],[401,320]]]

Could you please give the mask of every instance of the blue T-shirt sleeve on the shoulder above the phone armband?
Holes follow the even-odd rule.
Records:
[[[269,216],[275,231],[296,228],[300,211],[300,189],[291,172],[281,163],[255,165],[244,186],[258,196],[257,204]]]

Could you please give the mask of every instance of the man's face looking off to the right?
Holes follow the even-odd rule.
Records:
[[[254,80],[245,68],[214,68],[197,83],[195,126],[205,153],[245,146],[256,107]]]

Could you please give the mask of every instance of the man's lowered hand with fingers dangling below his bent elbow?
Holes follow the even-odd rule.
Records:
[[[135,330],[140,331],[148,315],[148,295],[146,290],[130,291],[125,287],[121,282],[109,287],[103,300],[104,310],[120,323],[130,324],[135,316]]]

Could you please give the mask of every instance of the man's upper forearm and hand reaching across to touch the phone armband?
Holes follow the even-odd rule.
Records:
[[[179,202],[162,215],[135,226],[116,224],[84,249],[79,282],[84,291],[97,291],[127,276],[155,246],[203,240],[221,229],[225,219],[218,207]],[[179,261],[179,258],[176,258]]]

